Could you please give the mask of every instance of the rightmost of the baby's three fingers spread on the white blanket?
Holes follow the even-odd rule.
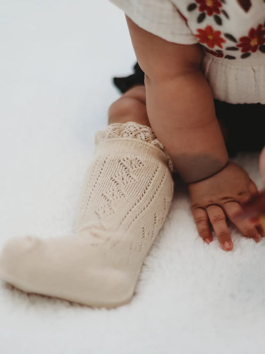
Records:
[[[256,242],[260,241],[261,235],[248,219],[235,218],[235,215],[243,211],[242,207],[237,202],[226,203],[224,205],[224,210],[229,220],[235,224],[243,236],[253,238]]]

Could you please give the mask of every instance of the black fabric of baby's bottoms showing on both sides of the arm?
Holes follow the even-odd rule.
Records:
[[[114,85],[123,94],[135,85],[144,85],[144,72],[138,63],[134,73],[114,77]],[[226,147],[230,157],[240,151],[261,151],[265,145],[265,105],[237,104],[214,100],[216,117],[226,131]]]

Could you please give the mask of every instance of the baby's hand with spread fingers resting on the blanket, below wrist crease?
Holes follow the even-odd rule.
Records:
[[[255,183],[243,168],[229,162],[214,176],[188,184],[188,189],[193,218],[199,236],[206,243],[213,240],[211,223],[221,247],[226,251],[233,248],[226,217],[243,236],[254,238],[256,242],[263,236],[260,225],[255,226],[247,219],[235,218],[242,211],[241,205],[257,193]]]

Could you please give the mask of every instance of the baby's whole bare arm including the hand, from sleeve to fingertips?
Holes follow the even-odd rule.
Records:
[[[257,188],[246,171],[227,164],[211,90],[200,71],[199,46],[168,42],[126,19],[138,63],[145,72],[151,127],[188,183],[199,235],[207,243],[212,240],[210,221],[222,248],[231,250],[228,217],[244,236],[258,241],[260,235],[249,221],[233,219]]]

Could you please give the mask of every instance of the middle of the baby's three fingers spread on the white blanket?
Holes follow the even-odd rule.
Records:
[[[206,208],[206,211],[221,247],[225,251],[231,251],[233,248],[233,242],[229,233],[223,209],[217,205],[210,205]]]

